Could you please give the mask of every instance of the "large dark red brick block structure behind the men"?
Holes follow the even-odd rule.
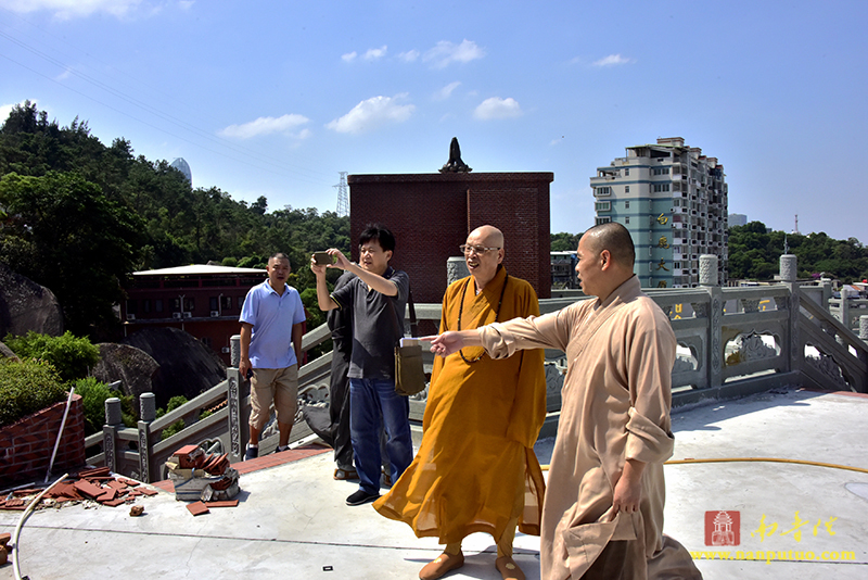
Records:
[[[539,298],[551,295],[551,173],[350,175],[353,260],[365,226],[380,222],[397,239],[392,265],[407,272],[416,302],[443,300],[446,261],[460,255],[474,228],[489,224],[506,238],[503,264]]]

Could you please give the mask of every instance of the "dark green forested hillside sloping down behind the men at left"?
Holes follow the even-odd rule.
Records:
[[[303,291],[307,256],[333,247],[348,251],[349,218],[193,189],[165,160],[135,156],[122,137],[106,147],[78,118],[62,127],[25,102],[0,127],[0,262],[54,292],[77,336],[111,337],[130,272],[265,267],[280,251]]]

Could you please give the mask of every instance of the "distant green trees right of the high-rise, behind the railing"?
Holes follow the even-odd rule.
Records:
[[[783,244],[796,256],[800,278],[825,273],[845,283],[868,277],[868,249],[856,238],[834,240],[824,232],[803,236],[767,231],[762,222],[729,229],[729,277],[770,280],[780,269]]]

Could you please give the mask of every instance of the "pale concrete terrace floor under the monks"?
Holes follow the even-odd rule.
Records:
[[[786,458],[866,469],[866,395],[804,390],[676,409],[673,459]],[[537,443],[542,464],[551,443]],[[250,469],[241,476],[239,506],[197,517],[165,491],[137,502],[144,506],[139,518],[129,517],[129,506],[36,512],[20,539],[22,575],[411,579],[441,552],[436,540],[417,539],[370,504],[346,506],[356,484],[332,479],[329,452],[290,451],[237,467]],[[775,553],[770,563],[698,559],[704,578],[868,578],[868,472],[740,461],[669,464],[665,474],[664,531],[688,550],[726,551],[732,558]],[[705,545],[706,513],[718,510],[738,512],[739,545]],[[0,510],[0,532],[13,532],[20,517]],[[515,540],[515,559],[528,579],[539,578],[538,549],[538,538]],[[464,567],[446,578],[500,579],[490,537],[471,535],[464,554]],[[12,565],[0,567],[0,580],[11,578]]]

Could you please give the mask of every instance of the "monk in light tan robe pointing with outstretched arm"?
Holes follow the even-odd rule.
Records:
[[[702,578],[685,547],[663,535],[676,340],[640,290],[635,256],[624,226],[595,226],[579,241],[576,270],[596,300],[432,342],[442,355],[476,345],[495,358],[544,346],[566,352],[542,508],[546,580]]]

